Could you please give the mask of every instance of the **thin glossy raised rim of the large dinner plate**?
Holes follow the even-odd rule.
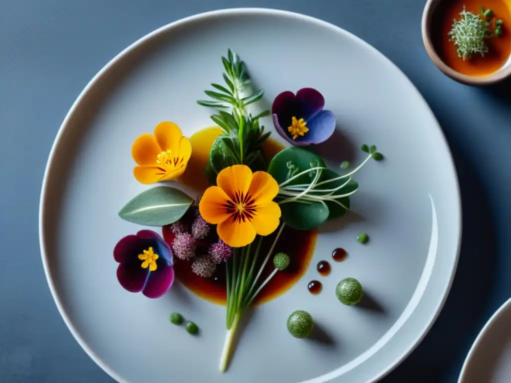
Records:
[[[97,82],[99,82],[109,71],[111,67],[116,65],[119,61],[121,61],[125,56],[127,56],[130,52],[137,49],[141,45],[145,44],[146,42],[149,42],[153,38],[158,37],[160,34],[166,33],[171,31],[174,28],[178,28],[180,26],[190,24],[197,21],[202,21],[208,18],[214,18],[214,17],[221,17],[221,16],[238,16],[238,15],[247,15],[247,14],[260,14],[260,15],[269,15],[269,16],[280,16],[280,17],[291,17],[295,19],[304,20],[310,23],[314,23],[317,26],[327,28],[333,32],[340,33],[344,35],[345,37],[349,37],[352,40],[355,40],[358,44],[361,44],[365,47],[365,49],[371,51],[372,53],[375,53],[380,56],[380,58],[387,61],[388,64],[390,64],[394,70],[397,70],[401,76],[406,78],[408,81],[410,88],[416,93],[417,97],[421,102],[423,103],[425,109],[427,110],[427,113],[430,114],[430,117],[432,120],[436,123],[435,128],[437,129],[437,133],[439,133],[439,138],[443,141],[446,149],[447,154],[449,158],[449,163],[447,165],[450,165],[452,168],[452,173],[454,176],[454,183],[455,188],[454,190],[457,200],[457,208],[459,211],[457,219],[458,221],[458,233],[456,238],[456,254],[454,255],[453,264],[452,264],[452,271],[448,283],[446,284],[446,288],[442,293],[442,299],[439,301],[437,306],[435,307],[434,312],[432,313],[431,317],[427,320],[426,326],[420,331],[419,336],[416,337],[413,341],[413,343],[410,344],[407,348],[405,348],[404,352],[399,355],[396,359],[394,359],[393,362],[391,362],[385,369],[380,371],[378,374],[376,374],[373,378],[368,380],[368,382],[376,382],[386,375],[388,375],[390,372],[392,372],[394,369],[396,369],[414,350],[419,344],[422,342],[426,334],[430,331],[433,324],[436,322],[436,319],[438,318],[438,315],[440,312],[442,312],[442,309],[445,305],[445,302],[447,300],[447,297],[449,295],[449,292],[452,287],[452,283],[454,280],[454,276],[456,274],[456,269],[458,265],[459,260],[459,253],[461,248],[461,237],[462,237],[462,204],[461,204],[461,193],[460,193],[460,186],[459,186],[459,178],[456,171],[456,166],[454,163],[453,155],[451,152],[451,149],[449,147],[449,143],[447,141],[447,138],[444,134],[444,131],[442,130],[440,124],[438,123],[438,120],[436,116],[434,115],[433,111],[431,110],[429,104],[424,99],[423,95],[417,89],[417,87],[414,85],[414,83],[409,79],[409,77],[399,68],[393,61],[391,61],[387,56],[385,56],[383,53],[381,53],[376,47],[369,44],[368,42],[362,40],[360,37],[354,35],[353,33],[346,31],[342,29],[341,27],[338,27],[334,25],[331,22],[324,21],[322,19],[319,19],[317,17],[305,15],[298,12],[293,11],[287,11],[287,10],[281,10],[281,9],[275,9],[275,8],[261,8],[261,7],[248,7],[248,8],[224,8],[224,9],[218,9],[218,10],[212,10],[212,11],[206,11],[201,12],[197,14],[193,14],[181,19],[178,19],[176,21],[170,22],[162,27],[159,27],[152,32],[142,36],[141,38],[135,40],[133,43],[129,44],[125,49],[123,49],[120,53],[115,55],[108,63],[106,63],[92,79],[87,83],[87,85],[82,89],[82,91],[79,93],[76,100],[73,102],[71,108],[69,108],[68,112],[66,113],[58,131],[55,136],[55,139],[52,144],[52,148],[50,150],[50,154],[48,156],[48,161],[45,165],[44,169],[44,175],[42,179],[42,187],[41,187],[41,194],[39,199],[39,219],[38,219],[38,228],[39,228],[39,248],[41,252],[41,259],[42,259],[42,265],[44,269],[44,275],[46,277],[48,286],[50,288],[50,292],[52,294],[52,298],[55,302],[55,305],[57,306],[58,312],[60,316],[62,317],[65,325],[75,338],[75,340],[78,342],[78,344],[82,347],[82,349],[85,351],[85,353],[91,358],[94,363],[96,363],[105,373],[107,373],[112,379],[118,381],[119,383],[131,383],[128,379],[121,376],[117,371],[114,371],[112,368],[110,368],[107,364],[105,364],[101,358],[88,346],[88,344],[83,340],[83,338],[80,336],[79,332],[75,328],[74,324],[72,323],[71,319],[69,319],[69,316],[67,315],[64,306],[61,302],[61,298],[57,292],[57,289],[55,287],[55,283],[53,280],[53,277],[50,273],[50,266],[48,262],[48,254],[46,252],[46,240],[45,237],[47,236],[46,229],[44,226],[45,216],[47,216],[48,212],[45,208],[45,200],[47,199],[47,193],[48,193],[48,187],[49,187],[49,176],[52,172],[52,168],[55,166],[55,156],[59,149],[59,147],[62,145],[62,136],[64,134],[64,131],[69,128],[69,121],[72,119],[73,115],[79,108],[80,103],[82,100],[86,97],[87,93],[94,88]],[[511,300],[511,299],[510,299]],[[458,382],[459,383],[459,382]]]

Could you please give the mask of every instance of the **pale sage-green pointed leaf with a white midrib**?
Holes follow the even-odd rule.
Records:
[[[119,211],[123,220],[147,226],[164,226],[179,220],[193,199],[181,190],[156,186],[142,192]]]

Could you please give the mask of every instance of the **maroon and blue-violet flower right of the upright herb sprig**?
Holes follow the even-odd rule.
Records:
[[[324,110],[324,97],[316,89],[302,88],[277,95],[271,107],[278,134],[296,146],[326,141],[334,133],[335,116]]]

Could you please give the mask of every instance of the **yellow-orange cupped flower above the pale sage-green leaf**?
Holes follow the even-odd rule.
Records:
[[[179,178],[192,155],[192,144],[181,129],[171,122],[154,128],[154,135],[144,133],[131,147],[131,156],[138,164],[133,175],[141,183],[155,183]]]

